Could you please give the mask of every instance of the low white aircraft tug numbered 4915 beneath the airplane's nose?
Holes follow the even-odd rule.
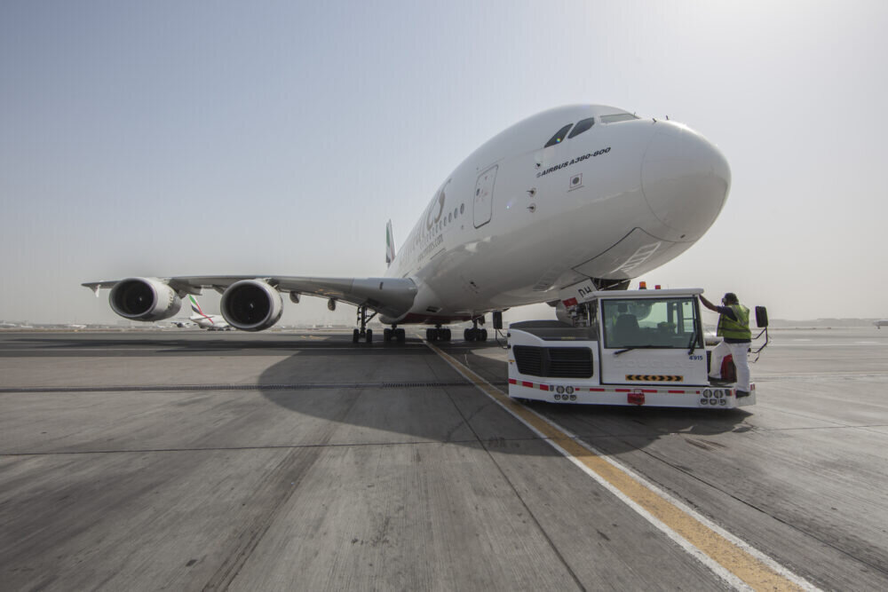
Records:
[[[597,291],[591,282],[562,290],[561,320],[510,326],[509,396],[586,405],[755,405],[754,383],[740,398],[735,384],[710,383],[697,300],[702,292]],[[757,312],[766,327],[764,308]]]

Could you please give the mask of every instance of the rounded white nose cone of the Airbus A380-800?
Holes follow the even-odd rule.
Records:
[[[715,222],[731,188],[725,156],[700,134],[670,122],[647,146],[641,187],[647,205],[672,240],[693,241]],[[666,237],[662,237],[666,238]]]

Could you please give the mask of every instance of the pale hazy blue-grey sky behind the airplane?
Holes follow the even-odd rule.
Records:
[[[886,317],[886,31],[881,1],[4,2],[0,319],[115,321],[79,284],[130,275],[381,275],[386,220],[400,246],[472,150],[578,102],[730,162],[643,279]],[[281,322],[353,319],[310,300]]]

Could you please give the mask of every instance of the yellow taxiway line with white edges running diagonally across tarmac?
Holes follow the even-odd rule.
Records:
[[[447,352],[432,343],[426,342],[426,345],[505,411],[542,436],[568,461],[614,493],[733,588],[818,589],[622,463],[608,458],[548,418],[512,400]]]

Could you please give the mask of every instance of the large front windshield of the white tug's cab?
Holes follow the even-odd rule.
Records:
[[[604,346],[614,348],[702,348],[696,299],[624,298],[601,301]]]

